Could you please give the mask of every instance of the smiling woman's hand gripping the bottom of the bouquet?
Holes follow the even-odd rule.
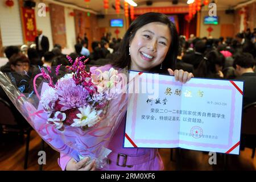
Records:
[[[66,166],[66,171],[95,171],[96,169],[96,161],[90,161],[90,158],[85,157],[80,160],[80,162],[76,162],[73,158],[69,160]]]

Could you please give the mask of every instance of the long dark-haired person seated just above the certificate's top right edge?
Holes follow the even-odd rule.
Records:
[[[224,62],[225,57],[221,53],[217,51],[208,52],[195,70],[195,77],[223,78],[224,75],[221,70]]]

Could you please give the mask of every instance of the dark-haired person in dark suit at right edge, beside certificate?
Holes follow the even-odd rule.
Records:
[[[234,59],[233,67],[236,69],[236,80],[243,80],[243,106],[256,102],[255,86],[256,75],[254,72],[255,61],[250,53],[241,53]]]

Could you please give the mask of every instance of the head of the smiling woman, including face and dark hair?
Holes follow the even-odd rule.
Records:
[[[134,70],[168,73],[176,63],[179,38],[168,16],[146,13],[131,23],[115,66]]]

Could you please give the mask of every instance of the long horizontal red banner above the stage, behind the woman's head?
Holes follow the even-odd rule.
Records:
[[[176,6],[176,7],[139,7],[134,9],[135,15],[142,15],[148,12],[156,12],[163,14],[179,14],[188,13],[188,6]]]

